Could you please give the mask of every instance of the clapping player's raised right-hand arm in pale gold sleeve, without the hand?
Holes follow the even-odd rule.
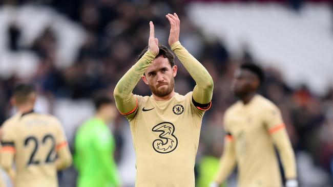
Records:
[[[179,41],[172,44],[171,49],[197,84],[193,90],[193,99],[201,104],[209,103],[212,100],[214,83],[207,69]]]

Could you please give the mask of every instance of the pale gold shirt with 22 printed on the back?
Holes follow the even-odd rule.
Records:
[[[16,114],[3,125],[3,149],[15,152],[15,186],[58,186],[56,150],[67,145],[59,121],[40,113]]]

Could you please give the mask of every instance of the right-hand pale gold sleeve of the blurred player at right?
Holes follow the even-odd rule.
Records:
[[[282,121],[281,112],[277,106],[273,105],[269,106],[264,113],[265,125],[267,126],[267,131],[281,157],[285,178],[296,179],[295,154],[285,129],[285,125]]]

